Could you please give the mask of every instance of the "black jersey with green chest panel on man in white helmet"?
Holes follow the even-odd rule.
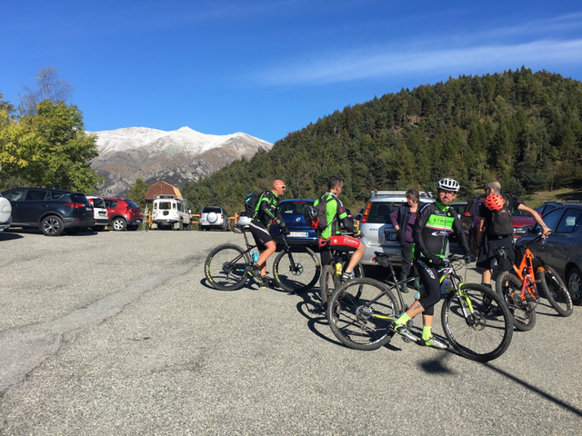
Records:
[[[457,218],[457,211],[441,203],[426,203],[416,213],[412,238],[416,243],[416,259],[437,255],[443,257],[447,252],[448,236],[454,231],[459,245],[468,255],[471,253],[467,235]]]

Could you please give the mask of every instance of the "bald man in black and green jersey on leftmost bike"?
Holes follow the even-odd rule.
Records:
[[[253,265],[253,276],[260,288],[268,286],[266,261],[271,254],[276,252],[276,243],[268,231],[269,224],[275,221],[282,234],[289,234],[289,229],[286,228],[283,216],[279,211],[279,197],[285,193],[285,190],[285,182],[279,179],[273,182],[272,191],[263,193],[256,203],[255,218],[251,220],[249,226],[251,234],[255,238],[256,249],[260,253],[258,261]]]

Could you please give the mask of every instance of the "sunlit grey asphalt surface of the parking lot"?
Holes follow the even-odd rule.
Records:
[[[208,287],[206,254],[227,242],[243,238],[0,233],[0,434],[582,432],[580,307],[539,305],[485,364],[400,338],[357,352],[317,289]]]

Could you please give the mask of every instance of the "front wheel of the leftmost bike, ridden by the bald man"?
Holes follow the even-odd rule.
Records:
[[[313,288],[321,266],[316,253],[307,247],[291,245],[276,256],[273,263],[275,280],[286,292],[306,292]]]

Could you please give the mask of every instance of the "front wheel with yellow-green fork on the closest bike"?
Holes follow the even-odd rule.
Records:
[[[441,312],[448,342],[477,362],[489,362],[506,352],[513,336],[512,316],[499,296],[477,283],[449,292]]]

